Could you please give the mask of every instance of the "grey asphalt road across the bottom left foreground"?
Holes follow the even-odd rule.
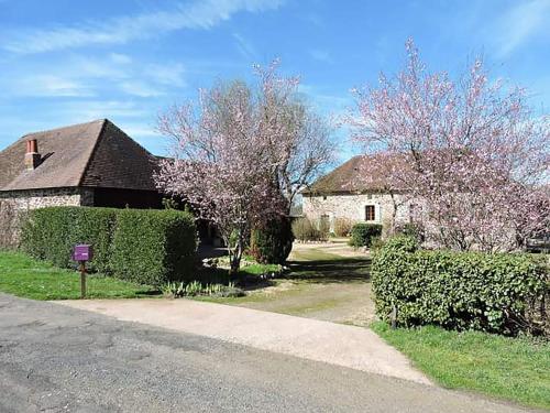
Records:
[[[0,412],[520,412],[0,294]]]

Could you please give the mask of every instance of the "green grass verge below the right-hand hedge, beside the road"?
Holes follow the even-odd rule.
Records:
[[[550,409],[550,344],[435,326],[372,328],[436,382]]]

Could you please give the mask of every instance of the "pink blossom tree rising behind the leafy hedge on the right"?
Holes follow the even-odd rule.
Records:
[[[549,118],[534,116],[524,89],[490,81],[481,61],[453,81],[428,72],[413,41],[407,52],[395,78],[354,90],[349,121],[367,152],[405,160],[388,182],[421,202],[431,238],[494,251],[548,231]]]

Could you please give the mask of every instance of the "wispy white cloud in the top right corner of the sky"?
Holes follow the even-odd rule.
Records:
[[[487,35],[496,47],[496,55],[505,57],[524,43],[538,35],[548,35],[550,0],[516,2],[491,28]]]

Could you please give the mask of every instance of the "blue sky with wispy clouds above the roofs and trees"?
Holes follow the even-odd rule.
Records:
[[[275,57],[319,111],[342,113],[352,87],[400,67],[409,36],[432,69],[483,55],[548,112],[549,21],[550,0],[0,0],[0,150],[109,118],[163,154],[160,111]],[[340,135],[345,157],[354,149]]]

